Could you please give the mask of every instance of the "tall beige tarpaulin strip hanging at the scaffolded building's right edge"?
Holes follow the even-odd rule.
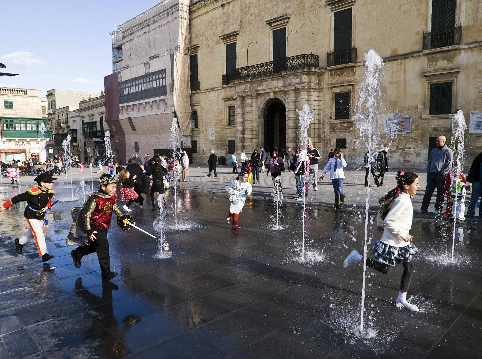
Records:
[[[174,53],[174,110],[181,135],[191,135],[191,84],[189,74],[189,0],[179,1],[179,52]]]

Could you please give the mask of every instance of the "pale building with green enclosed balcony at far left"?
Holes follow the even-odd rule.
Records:
[[[52,132],[40,90],[0,87],[0,160],[45,162]]]

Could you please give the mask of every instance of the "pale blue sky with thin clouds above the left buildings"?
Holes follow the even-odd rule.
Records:
[[[110,33],[159,0],[2,1],[0,86],[100,92],[112,73]]]

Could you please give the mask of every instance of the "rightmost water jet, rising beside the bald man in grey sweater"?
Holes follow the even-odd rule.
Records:
[[[453,151],[456,154],[456,162],[455,162],[455,167],[454,167],[454,177],[455,177],[455,197],[458,195],[457,191],[457,185],[459,183],[458,176],[462,173],[463,169],[463,164],[462,160],[464,157],[465,153],[465,130],[467,129],[467,124],[465,122],[465,117],[464,117],[464,112],[462,110],[458,110],[457,113],[455,113],[454,118],[452,119],[452,146],[453,146]],[[454,232],[453,232],[453,238],[452,238],[452,263],[454,262],[454,250],[455,250],[455,227],[457,224],[457,221],[455,219],[457,218],[457,204],[456,202],[454,203],[453,206],[453,211],[454,211]],[[463,216],[463,213],[462,213]]]

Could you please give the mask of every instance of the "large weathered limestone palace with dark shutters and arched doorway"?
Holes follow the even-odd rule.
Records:
[[[189,16],[197,163],[211,150],[295,148],[296,110],[308,104],[323,158],[340,147],[362,164],[351,119],[372,48],[385,62],[380,131],[391,167],[424,167],[438,135],[450,143],[457,109],[469,127],[466,162],[482,151],[478,0],[193,0]]]

